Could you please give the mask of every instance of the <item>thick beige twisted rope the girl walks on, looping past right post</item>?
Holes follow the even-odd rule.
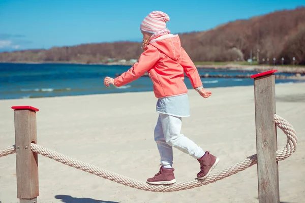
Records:
[[[293,152],[295,152],[296,145],[297,145],[297,137],[296,137],[296,132],[293,129],[293,127],[285,119],[281,118],[278,115],[275,115],[275,124],[280,129],[282,129],[287,136],[287,145],[285,146],[285,148],[282,150],[278,150],[276,152],[277,161],[281,161],[281,160],[284,160],[287,157],[291,156],[291,154]],[[94,166],[92,164],[88,164],[88,163],[85,163],[85,162],[82,162],[82,161],[79,161],[76,159],[72,159],[68,156],[65,156],[65,155],[57,153],[55,151],[46,149],[44,147],[41,147],[41,146],[33,144],[33,143],[31,144],[31,150],[33,152],[36,152],[43,156],[54,159],[58,162],[64,163],[71,167],[75,167],[84,172],[88,172],[90,174],[94,174],[94,175],[100,176],[102,178],[114,181],[119,184],[129,186],[132,188],[152,191],[152,192],[174,192],[174,191],[179,191],[179,190],[186,190],[186,189],[191,189],[191,188],[195,188],[195,187],[200,187],[202,185],[207,185],[209,183],[214,183],[221,179],[227,178],[233,174],[246,170],[246,168],[257,163],[257,155],[254,154],[234,165],[231,165],[228,168],[225,168],[222,171],[210,174],[203,181],[198,180],[198,179],[192,179],[192,180],[189,180],[186,182],[178,182],[173,185],[149,185],[145,182],[134,180],[134,179],[128,178],[126,176],[122,176],[122,175],[104,170],[104,169]]]

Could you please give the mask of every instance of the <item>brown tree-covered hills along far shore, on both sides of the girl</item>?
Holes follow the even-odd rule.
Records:
[[[182,47],[194,61],[247,60],[273,57],[281,63],[305,64],[305,7],[249,20],[236,20],[202,32],[179,33]],[[259,50],[259,51],[258,51]],[[141,43],[115,42],[0,53],[0,61],[105,62],[108,58],[137,59]],[[295,61],[293,61],[295,57]],[[256,58],[255,58],[256,59]]]

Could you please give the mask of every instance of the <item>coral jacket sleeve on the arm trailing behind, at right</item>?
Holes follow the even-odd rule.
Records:
[[[191,60],[191,58],[189,57],[189,55],[187,54],[187,52],[182,47],[181,47],[181,59],[182,60],[180,65],[183,67],[186,75],[190,78],[193,88],[196,89],[197,87],[201,87],[202,82],[199,77],[197,68],[193,63],[193,61]]]

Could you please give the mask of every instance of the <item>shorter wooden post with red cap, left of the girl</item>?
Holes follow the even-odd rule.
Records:
[[[12,107],[15,119],[17,198],[20,203],[37,203],[38,156],[31,150],[37,143],[36,111],[29,106]]]

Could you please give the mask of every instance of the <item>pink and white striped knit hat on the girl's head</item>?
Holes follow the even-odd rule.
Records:
[[[169,16],[162,11],[150,12],[142,21],[140,29],[144,32],[156,33],[166,29]]]

